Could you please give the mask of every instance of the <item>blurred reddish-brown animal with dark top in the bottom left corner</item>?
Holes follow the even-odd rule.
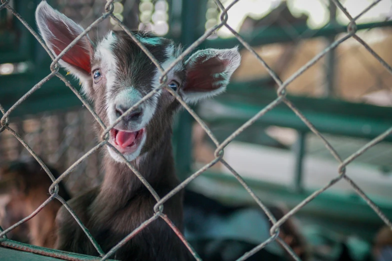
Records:
[[[49,167],[58,177],[58,172]],[[13,161],[0,168],[0,195],[2,214],[0,225],[7,228],[33,212],[49,196],[49,186],[52,181],[34,159]],[[58,194],[65,200],[70,198],[65,186],[59,183]],[[43,247],[54,247],[55,225],[54,219],[61,202],[51,200],[34,217],[15,227],[8,234],[8,238]]]

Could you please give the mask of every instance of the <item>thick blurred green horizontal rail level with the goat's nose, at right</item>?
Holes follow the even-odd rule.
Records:
[[[244,90],[238,96],[234,89]],[[247,92],[245,84],[229,84],[226,94],[216,97],[215,100],[236,113],[198,113],[210,124],[242,124],[252,117],[277,96],[272,90],[260,89],[259,94]],[[231,91],[230,89],[233,89]],[[352,103],[332,98],[310,98],[304,96],[287,95],[289,99],[320,131],[337,135],[353,137],[374,138],[392,126],[392,113],[390,107],[380,107],[370,104]],[[309,128],[284,103],[280,103],[272,110],[261,116],[254,124],[259,126],[277,125],[290,127],[300,131],[309,131]],[[392,141],[392,135],[385,141]]]

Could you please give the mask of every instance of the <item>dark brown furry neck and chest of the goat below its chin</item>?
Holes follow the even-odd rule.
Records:
[[[165,131],[170,139],[171,129]],[[173,189],[178,181],[174,174],[170,142],[162,139],[150,151],[138,170],[159,196]],[[154,160],[155,159],[155,160]],[[156,160],[157,159],[157,160]],[[105,159],[103,183],[68,204],[86,225],[102,250],[107,252],[128,233],[153,215],[156,200],[134,173],[124,164]],[[87,211],[85,211],[87,209]],[[182,192],[164,204],[163,212],[182,230]],[[97,255],[91,242],[65,208],[57,215],[59,238],[56,247],[79,253]],[[112,258],[121,260],[187,260],[188,251],[162,220],[157,219],[122,246]]]

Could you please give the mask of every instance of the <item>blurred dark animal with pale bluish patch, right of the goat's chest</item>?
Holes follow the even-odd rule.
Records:
[[[280,219],[287,213],[287,210],[283,206],[268,205],[267,207],[276,220]],[[254,223],[251,218],[249,219],[249,215],[246,214],[249,210],[256,210],[252,212],[256,212],[256,218],[259,222]],[[221,227],[220,229],[223,230],[232,229],[233,227],[229,226],[230,223],[227,223],[227,220],[230,220],[234,216],[241,222],[252,222],[251,226],[254,226],[254,229],[258,229],[259,233],[268,234],[269,236],[269,228],[272,223],[268,220],[265,213],[263,213],[263,211],[258,207],[248,205],[225,205],[203,194],[185,189],[185,229],[189,232],[189,234],[192,234],[193,238],[198,238],[196,240],[192,240],[191,244],[203,261],[234,261],[257,245],[249,242],[249,240],[243,240],[244,237],[247,237],[246,232],[241,232],[243,235],[242,237],[240,235],[235,237],[232,234],[231,236],[227,236],[224,232],[211,236],[212,234],[209,231],[206,231],[211,228],[211,226]],[[242,216],[242,218],[240,216]],[[258,226],[263,222],[264,225]],[[242,226],[242,228],[244,227]],[[263,229],[264,231],[262,231]],[[293,249],[302,261],[309,260],[308,244],[304,236],[301,234],[299,226],[297,226],[292,217],[280,226],[279,237]],[[293,260],[291,255],[289,255],[285,250],[282,250],[281,252],[283,254],[278,255],[274,252],[268,251],[266,248],[263,248],[248,257],[246,260]]]

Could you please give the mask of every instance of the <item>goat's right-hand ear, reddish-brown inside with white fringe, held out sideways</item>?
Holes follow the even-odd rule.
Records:
[[[196,51],[185,62],[186,81],[181,88],[184,101],[195,103],[223,92],[240,61],[238,47]]]

